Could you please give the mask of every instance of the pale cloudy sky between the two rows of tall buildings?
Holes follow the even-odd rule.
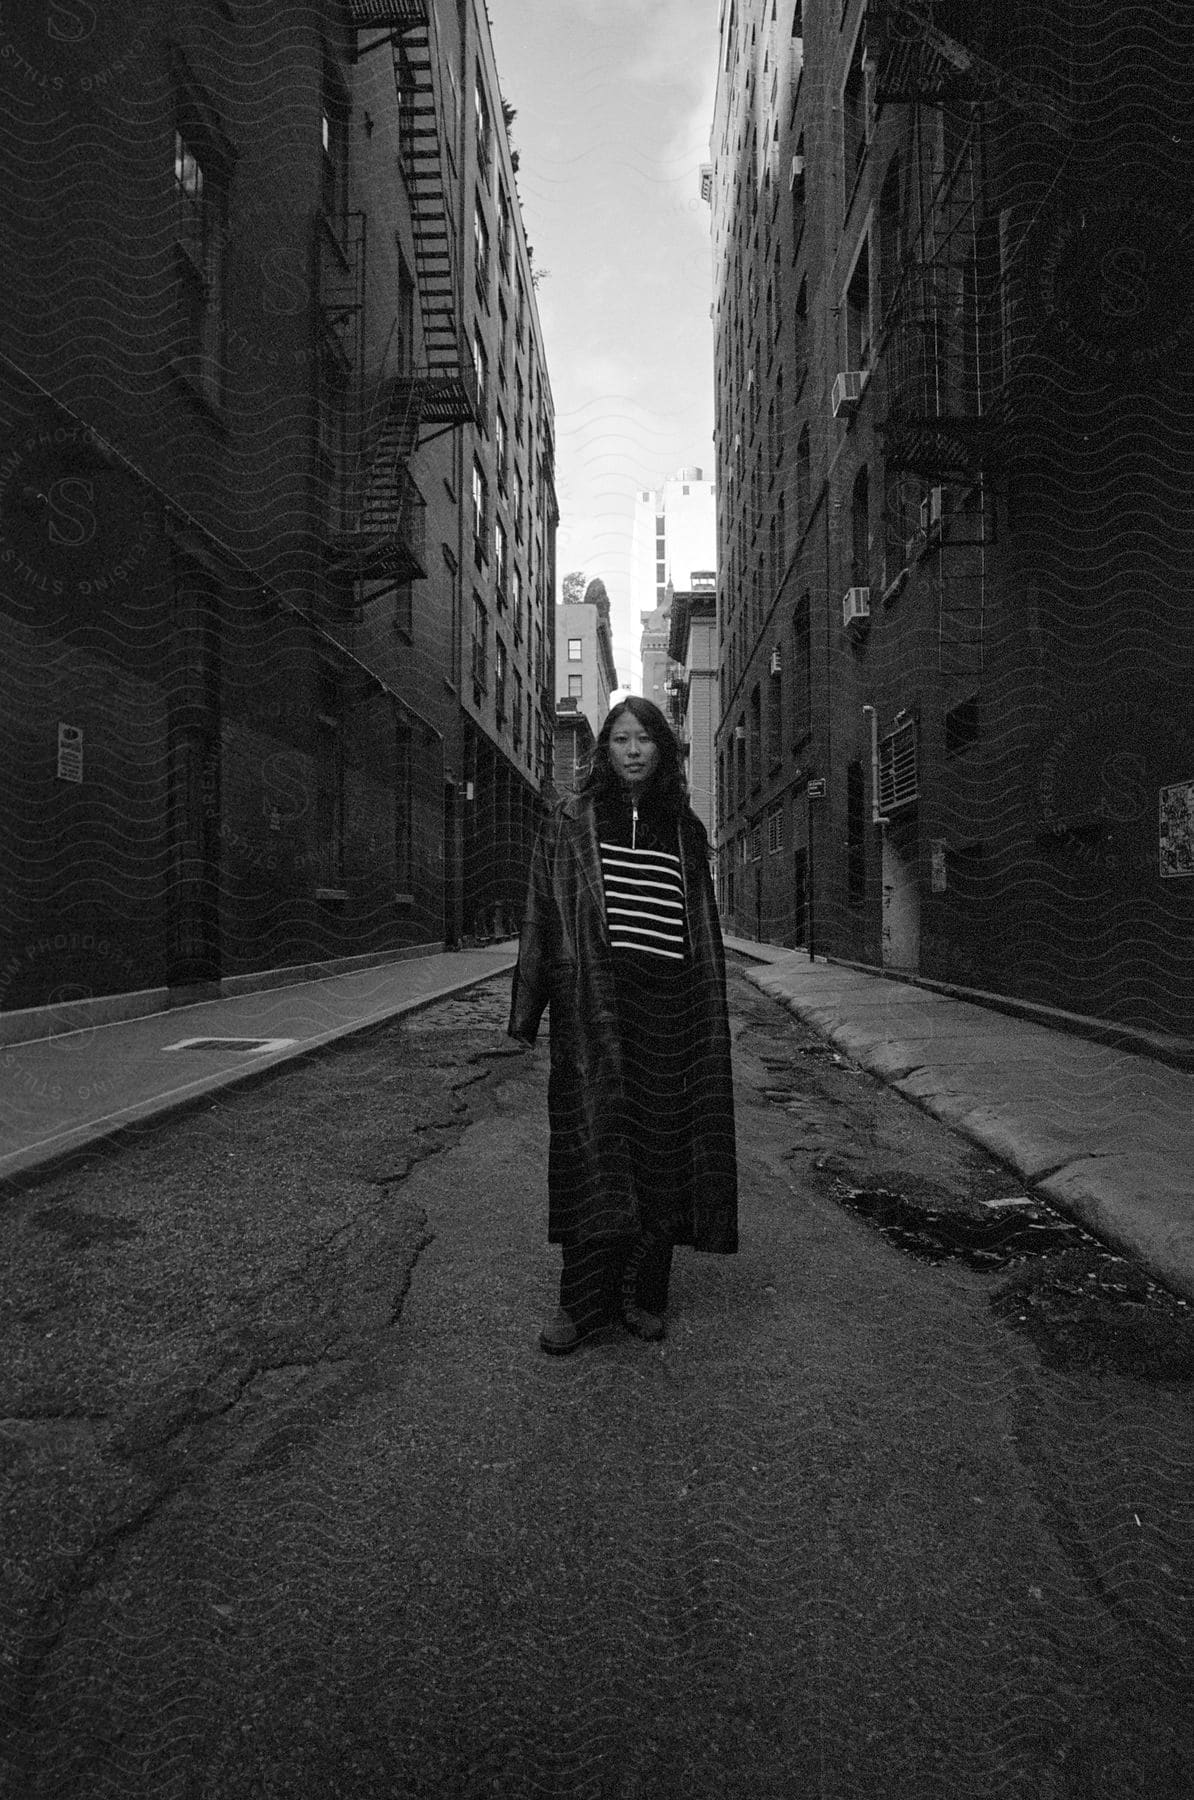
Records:
[[[630,520],[690,463],[713,479],[710,160],[717,0],[488,0],[519,117],[556,416],[558,576],[609,589],[621,680],[639,670]]]

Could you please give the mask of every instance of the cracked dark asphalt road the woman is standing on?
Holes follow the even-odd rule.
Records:
[[[834,1199],[1014,1179],[735,977],[742,1251],[547,1359],[506,999],[0,1217],[0,1793],[1192,1793],[1189,1382]]]

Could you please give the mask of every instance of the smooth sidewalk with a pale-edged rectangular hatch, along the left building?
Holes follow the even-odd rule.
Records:
[[[0,1044],[0,1184],[513,968],[517,943]],[[196,1042],[200,1040],[200,1042]]]

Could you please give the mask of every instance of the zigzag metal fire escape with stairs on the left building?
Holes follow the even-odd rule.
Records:
[[[447,189],[447,146],[439,95],[439,49],[430,0],[348,0],[357,32],[380,31],[357,56],[389,47],[398,104],[398,153],[411,205],[414,286],[421,322],[421,358],[409,320],[396,313],[382,369],[367,385],[358,358],[360,396],[355,443],[346,457],[340,531],[331,572],[357,583],[394,583],[427,574],[423,499],[411,475],[420,443],[475,423],[472,360],[461,340],[461,284]],[[364,268],[364,232],[362,232]],[[340,281],[344,286],[344,281]],[[364,306],[364,274],[351,301],[337,279],[321,283],[324,319],[337,308]],[[357,328],[360,331],[360,326]],[[360,590],[360,589],[358,589]]]

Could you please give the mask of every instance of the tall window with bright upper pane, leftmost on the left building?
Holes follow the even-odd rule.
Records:
[[[175,232],[180,272],[182,373],[213,405],[223,398],[223,247],[227,169],[198,131],[175,131]]]

